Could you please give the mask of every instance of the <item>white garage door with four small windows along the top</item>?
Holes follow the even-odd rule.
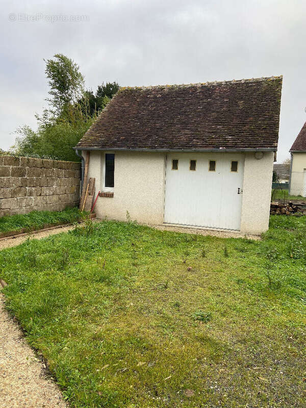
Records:
[[[243,169],[243,154],[168,155],[164,221],[240,230]]]

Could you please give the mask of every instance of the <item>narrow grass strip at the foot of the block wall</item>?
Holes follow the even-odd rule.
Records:
[[[0,218],[0,233],[20,231],[27,228],[29,231],[39,230],[46,224],[73,222],[81,219],[78,208],[67,208],[63,211],[32,211],[29,214],[9,215]]]

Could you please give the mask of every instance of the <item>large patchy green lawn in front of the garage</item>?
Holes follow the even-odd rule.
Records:
[[[262,241],[104,221],[0,252],[73,407],[306,406],[306,217]]]

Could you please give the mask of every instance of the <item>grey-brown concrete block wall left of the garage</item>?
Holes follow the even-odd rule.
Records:
[[[0,157],[0,217],[60,211],[80,200],[81,163]]]

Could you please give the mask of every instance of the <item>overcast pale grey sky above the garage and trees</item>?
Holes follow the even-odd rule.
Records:
[[[306,121],[305,0],[2,1],[0,147],[46,106],[43,59],[63,53],[86,87],[284,75],[277,161]],[[70,20],[77,21],[70,21]],[[65,21],[63,21],[65,20]]]

